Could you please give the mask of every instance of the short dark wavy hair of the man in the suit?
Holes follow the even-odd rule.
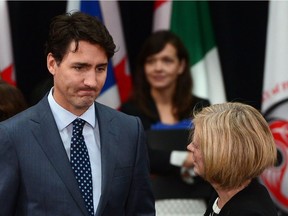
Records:
[[[115,53],[115,44],[107,28],[91,15],[75,12],[58,15],[52,19],[49,37],[45,44],[45,55],[52,53],[59,64],[72,41],[76,49],[80,40],[99,44],[106,52],[108,59]]]

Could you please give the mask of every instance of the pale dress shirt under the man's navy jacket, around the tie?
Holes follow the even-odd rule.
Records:
[[[72,122],[76,118],[81,118],[86,121],[83,128],[83,136],[88,149],[90,158],[92,180],[93,180],[93,203],[94,211],[96,213],[99,199],[101,196],[101,147],[99,125],[95,116],[95,106],[92,104],[89,109],[81,116],[76,116],[61,107],[54,99],[53,88],[48,95],[48,102],[51,107],[53,116],[55,118],[61,139],[64,144],[67,156],[70,160],[70,144],[72,138]]]

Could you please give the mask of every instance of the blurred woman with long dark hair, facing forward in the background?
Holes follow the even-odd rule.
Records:
[[[157,31],[147,38],[133,78],[133,95],[121,110],[140,116],[145,129],[190,128],[191,110],[210,104],[191,93],[188,52],[171,31]]]

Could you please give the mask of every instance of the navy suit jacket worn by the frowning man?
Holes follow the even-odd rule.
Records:
[[[155,215],[140,120],[95,108],[102,161],[96,215]],[[47,96],[0,123],[0,215],[88,215]]]

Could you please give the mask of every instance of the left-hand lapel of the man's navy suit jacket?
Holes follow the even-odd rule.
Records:
[[[55,168],[56,172],[66,185],[71,196],[87,215],[84,200],[78,188],[77,181],[71,169],[67,153],[62,143],[56,122],[49,107],[47,97],[36,105],[36,116],[31,119],[31,128],[39,145],[47,155],[47,158]]]

